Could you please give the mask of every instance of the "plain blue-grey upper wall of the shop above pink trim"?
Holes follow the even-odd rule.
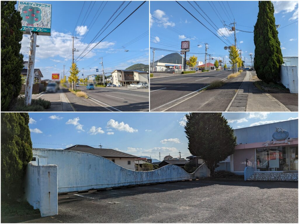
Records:
[[[237,144],[248,144],[271,140],[273,139],[272,134],[276,130],[275,127],[283,128],[288,131],[290,138],[298,138],[298,119],[295,119],[248,128],[234,129],[234,134],[237,136]]]

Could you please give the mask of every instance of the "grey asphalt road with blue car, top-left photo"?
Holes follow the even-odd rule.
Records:
[[[86,86],[80,86],[77,89],[85,92],[92,102],[112,111],[149,111],[149,92],[112,87],[94,87],[94,90],[86,90]]]

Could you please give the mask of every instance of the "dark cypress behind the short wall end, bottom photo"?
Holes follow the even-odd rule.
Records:
[[[22,196],[25,168],[32,159],[28,113],[1,113],[1,201]]]

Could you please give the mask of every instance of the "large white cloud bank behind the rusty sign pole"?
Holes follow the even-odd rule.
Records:
[[[28,57],[27,47],[30,47],[30,44],[28,43],[28,37],[29,35],[23,35],[23,39],[21,42],[21,52],[23,53],[24,58]],[[79,45],[81,45],[80,49],[85,49],[88,46],[88,43],[82,43],[81,39],[82,37],[79,37],[79,39],[75,42],[75,48],[78,48]],[[94,42],[93,44],[91,44],[91,46],[89,46],[87,50],[91,50],[91,48],[94,47],[97,43],[98,42]],[[67,55],[67,53],[70,53],[69,46],[71,45],[71,33],[60,33],[55,30],[51,30],[51,36],[38,36],[36,44],[39,45],[39,47],[36,48],[36,58],[55,58],[54,60],[61,61],[69,56]],[[85,57],[91,58],[92,56],[96,55],[96,50],[107,49],[109,47],[112,47],[113,45],[115,45],[114,42],[100,42]],[[77,58],[81,53],[81,51],[74,52],[74,57]],[[58,57],[61,57],[61,59]]]

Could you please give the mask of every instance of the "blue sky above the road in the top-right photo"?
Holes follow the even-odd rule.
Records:
[[[259,10],[258,1],[196,1],[199,7],[190,1],[194,8],[213,25],[211,26],[188,1],[179,1],[179,3],[227,44],[234,44],[234,36],[233,32],[229,31],[229,24],[235,19],[237,30],[253,32]],[[280,24],[278,37],[283,56],[298,56],[298,22],[296,22],[298,1],[273,1],[273,4],[275,22]],[[226,46],[225,43],[187,13],[176,1],[151,1],[150,13],[153,18],[150,30],[151,47],[180,51],[181,41],[190,40],[191,53],[187,54],[188,57],[188,55],[192,56],[192,53],[204,53],[204,43],[208,43],[208,54],[212,54],[214,59],[223,60],[224,57],[226,62],[229,61],[228,52],[223,48]],[[223,20],[228,26],[223,25]],[[245,56],[245,64],[251,65],[249,54],[254,54],[254,34],[237,31],[236,36],[237,47],[242,50],[242,59],[244,60]],[[156,50],[155,60],[169,53],[172,52]],[[196,56],[198,61],[204,62],[204,54]],[[152,51],[150,59],[152,60]],[[214,61],[211,60],[212,62]]]

